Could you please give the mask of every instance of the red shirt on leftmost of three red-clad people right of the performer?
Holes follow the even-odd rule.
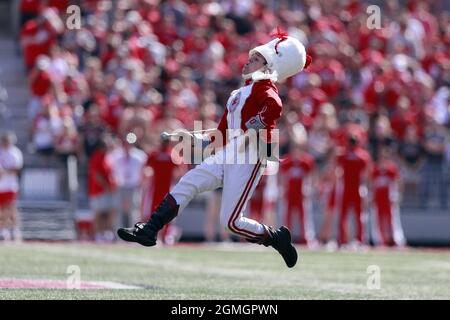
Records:
[[[300,159],[287,156],[281,164],[281,173],[287,178],[286,196],[288,199],[301,198],[303,196],[303,181],[314,169],[314,158],[309,154],[303,154]]]

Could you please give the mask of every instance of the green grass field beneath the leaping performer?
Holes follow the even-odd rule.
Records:
[[[273,249],[250,244],[0,244],[0,280],[65,282],[70,265],[82,281],[140,289],[0,289],[2,299],[450,299],[450,251],[307,251],[285,267]],[[367,268],[380,268],[368,289]],[[1,281],[0,281],[1,283]]]

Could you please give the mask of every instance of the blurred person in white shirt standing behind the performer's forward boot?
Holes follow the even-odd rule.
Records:
[[[130,137],[130,136],[127,136]],[[132,141],[132,140],[130,140]],[[147,155],[133,146],[133,142],[123,139],[121,145],[110,155],[109,160],[117,183],[117,226],[130,226],[140,219],[140,197],[144,166]]]

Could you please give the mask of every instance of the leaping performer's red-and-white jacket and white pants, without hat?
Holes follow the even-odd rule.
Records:
[[[224,129],[246,130],[250,127],[249,121],[254,122],[255,119],[260,123],[259,128],[273,129],[280,115],[281,101],[276,87],[270,80],[258,81],[232,92],[218,129],[222,134]],[[221,225],[239,236],[258,238],[264,234],[263,225],[244,217],[243,212],[267,160],[258,156],[253,145],[247,147],[246,159],[238,158],[243,135],[230,134],[230,131],[228,134],[226,146],[189,171],[170,194],[180,205],[181,212],[197,194],[223,187]]]

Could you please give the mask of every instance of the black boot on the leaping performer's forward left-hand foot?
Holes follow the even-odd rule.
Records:
[[[120,228],[117,234],[125,241],[137,242],[146,247],[154,246],[158,231],[177,216],[179,207],[168,193],[146,223],[138,222],[134,228]]]

